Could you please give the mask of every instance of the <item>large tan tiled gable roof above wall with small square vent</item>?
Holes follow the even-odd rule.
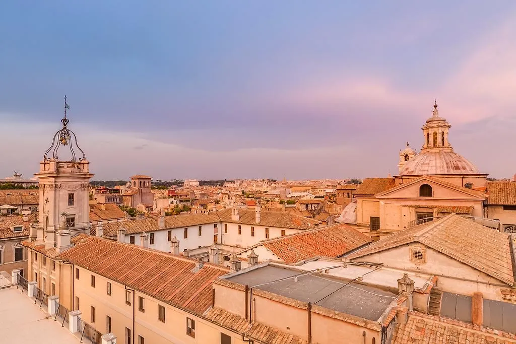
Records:
[[[506,234],[451,214],[409,227],[349,255],[356,259],[411,242],[420,242],[470,267],[512,285],[512,261]]]

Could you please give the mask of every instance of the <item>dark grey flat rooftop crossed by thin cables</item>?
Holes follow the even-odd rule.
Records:
[[[343,287],[347,282],[332,278],[331,275],[322,277],[305,274],[298,276],[295,282],[294,276],[300,273],[303,271],[295,268],[268,265],[231,276],[227,280],[373,321],[379,320],[397,297],[392,292],[358,283]],[[277,280],[281,281],[273,282]]]

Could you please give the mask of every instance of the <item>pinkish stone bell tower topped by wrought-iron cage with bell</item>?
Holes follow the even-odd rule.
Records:
[[[70,245],[71,232],[89,234],[89,161],[77,144],[75,133],[68,127],[68,106],[65,96],[65,117],[55,133],[52,145],[40,162],[39,223],[36,241],[46,249]],[[58,155],[59,154],[59,155]],[[63,239],[64,238],[64,239]]]

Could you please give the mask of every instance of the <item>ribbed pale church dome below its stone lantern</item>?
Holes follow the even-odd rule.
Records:
[[[399,175],[479,173],[473,163],[453,150],[423,150],[405,163]]]

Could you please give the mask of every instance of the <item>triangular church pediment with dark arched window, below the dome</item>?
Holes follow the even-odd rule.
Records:
[[[485,195],[476,190],[456,186],[439,178],[422,176],[375,195],[378,199],[447,199],[485,200]]]

